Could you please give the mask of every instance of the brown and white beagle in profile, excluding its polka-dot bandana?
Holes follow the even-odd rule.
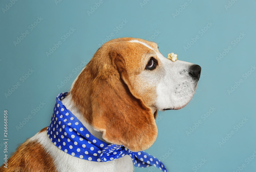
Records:
[[[180,109],[194,95],[201,67],[165,58],[154,42],[118,38],[103,44],[61,100],[99,140],[133,152],[156,140],[157,110]],[[131,172],[129,155],[108,162],[74,157],[60,150],[47,127],[21,144],[0,171]]]

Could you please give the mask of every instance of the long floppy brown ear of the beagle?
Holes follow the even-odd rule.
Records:
[[[109,56],[111,64],[92,83],[92,126],[107,142],[135,152],[148,149],[157,137],[154,115],[133,90],[123,58],[115,52]]]

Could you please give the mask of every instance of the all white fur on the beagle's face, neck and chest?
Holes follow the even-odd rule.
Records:
[[[132,42],[143,44],[153,50],[152,47],[140,41]],[[143,71],[138,76],[140,81],[144,82],[140,83],[142,90],[144,85],[157,85],[157,97],[151,107],[153,114],[156,109],[179,109],[184,107],[194,95],[197,86],[197,82],[188,76],[188,68],[193,64],[179,60],[172,62],[162,54],[158,52],[156,54],[160,59],[158,65],[161,68],[158,71]],[[82,118],[78,109],[71,102],[71,97],[72,95],[70,94],[62,103],[82,122],[90,133],[105,141],[102,138],[102,133],[96,131]],[[133,162],[129,155],[109,162],[92,162],[73,157],[55,146],[48,138],[46,131],[37,133],[29,140],[37,140],[44,147],[45,151],[54,159],[55,167],[59,172],[131,172],[134,170]]]

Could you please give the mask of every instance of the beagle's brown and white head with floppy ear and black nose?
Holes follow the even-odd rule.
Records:
[[[157,110],[184,107],[200,71],[198,65],[165,58],[154,42],[114,39],[98,49],[70,93],[104,140],[142,151],[156,140]]]

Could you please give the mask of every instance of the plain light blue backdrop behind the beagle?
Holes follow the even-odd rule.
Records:
[[[234,0],[233,0],[234,1]],[[157,118],[158,137],[156,142],[147,150],[155,157],[162,158],[168,171],[196,171],[194,166],[207,161],[197,171],[232,172],[244,163],[243,172],[256,170],[256,157],[249,164],[247,157],[256,150],[255,129],[255,76],[256,72],[245,79],[244,73],[256,65],[255,59],[255,1],[234,1],[226,10],[228,1],[110,1],[103,3],[89,16],[87,11],[95,1],[17,1],[5,13],[0,11],[1,18],[1,113],[8,110],[8,154],[14,152],[17,145],[27,138],[34,136],[39,130],[49,125],[55,97],[69,88],[78,73],[72,70],[81,64],[88,63],[93,54],[102,44],[102,39],[114,33],[114,38],[134,37],[148,39],[159,33],[154,42],[159,50],[167,57],[168,53],[178,54],[178,59],[201,66],[201,79],[196,94],[190,103],[180,110],[159,112]],[[180,14],[173,17],[180,5],[188,3]],[[5,8],[9,1],[1,1],[0,7]],[[43,18],[30,31],[28,26]],[[117,33],[113,30],[128,21]],[[213,25],[203,34],[199,30]],[[76,29],[67,40],[61,36]],[[16,46],[13,41],[29,30],[29,34]],[[233,46],[231,42],[241,33],[243,39]],[[196,35],[199,39],[188,49],[184,50],[187,42]],[[62,44],[49,57],[46,52],[58,41]],[[232,49],[219,62],[216,57],[224,48]],[[28,69],[34,72],[24,81]],[[63,88],[57,85],[72,74],[72,78]],[[230,95],[227,90],[240,79],[243,82]],[[7,98],[5,93],[20,82],[21,85]],[[31,110],[40,102],[46,103],[36,115]],[[216,108],[213,113],[203,120],[210,107]],[[16,126],[28,115],[32,118],[17,131]],[[248,121],[238,130],[234,126],[242,121]],[[202,120],[202,124],[187,136],[186,131],[194,123]],[[0,140],[3,137],[3,115],[0,117]],[[221,147],[219,142],[226,134],[234,134]],[[0,141],[0,143],[3,141]],[[3,162],[3,145],[0,145],[0,158]],[[174,151],[168,153],[169,148]],[[167,156],[168,155],[168,156]],[[255,155],[255,154],[254,154]],[[165,157],[165,158],[164,158]],[[253,157],[253,156],[252,156]],[[135,168],[135,171],[160,171],[153,167]]]

